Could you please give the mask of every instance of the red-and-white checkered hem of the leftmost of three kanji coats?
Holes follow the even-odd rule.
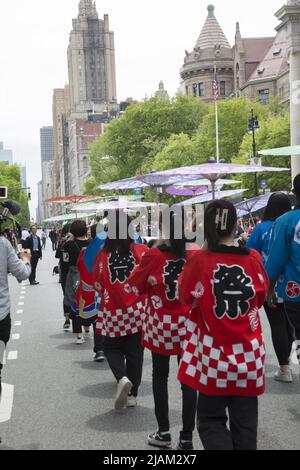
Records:
[[[115,312],[104,307],[98,314],[96,332],[109,338],[134,335],[142,331],[144,314],[144,305],[141,302]]]

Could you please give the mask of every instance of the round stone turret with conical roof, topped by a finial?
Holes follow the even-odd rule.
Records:
[[[180,75],[182,88],[187,95],[204,101],[213,100],[212,82],[217,68],[220,98],[234,91],[233,50],[216,17],[215,7],[208,6],[208,17],[192,52],[186,51]]]

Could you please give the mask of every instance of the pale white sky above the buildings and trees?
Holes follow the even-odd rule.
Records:
[[[26,163],[31,212],[41,179],[40,137],[52,125],[52,93],[68,82],[67,47],[79,0],[0,0],[0,141]],[[118,99],[142,99],[179,87],[185,49],[195,46],[209,1],[97,0],[99,17],[115,33]],[[243,37],[273,36],[284,0],[213,0],[231,45],[236,22]]]

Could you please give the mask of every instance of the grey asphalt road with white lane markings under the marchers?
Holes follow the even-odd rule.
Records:
[[[49,242],[48,242],[49,245]],[[95,364],[92,335],[82,346],[64,333],[62,294],[48,246],[38,266],[37,287],[11,279],[12,339],[3,373],[0,450],[146,450],[146,436],[156,430],[151,391],[151,358],[146,353],[144,379],[136,409],[116,413],[114,378],[106,363]],[[22,298],[21,298],[22,297]],[[24,305],[19,305],[24,304]],[[276,383],[268,323],[267,393],[260,399],[260,449],[300,449],[300,383],[294,359],[294,383]],[[174,358],[170,420],[176,444],[181,422],[181,393]],[[195,433],[195,447],[201,449]]]

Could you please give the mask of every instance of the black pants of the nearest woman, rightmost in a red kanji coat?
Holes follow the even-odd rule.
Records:
[[[227,427],[228,410],[230,430]],[[258,399],[217,397],[202,393],[198,398],[198,431],[205,450],[256,450]]]

